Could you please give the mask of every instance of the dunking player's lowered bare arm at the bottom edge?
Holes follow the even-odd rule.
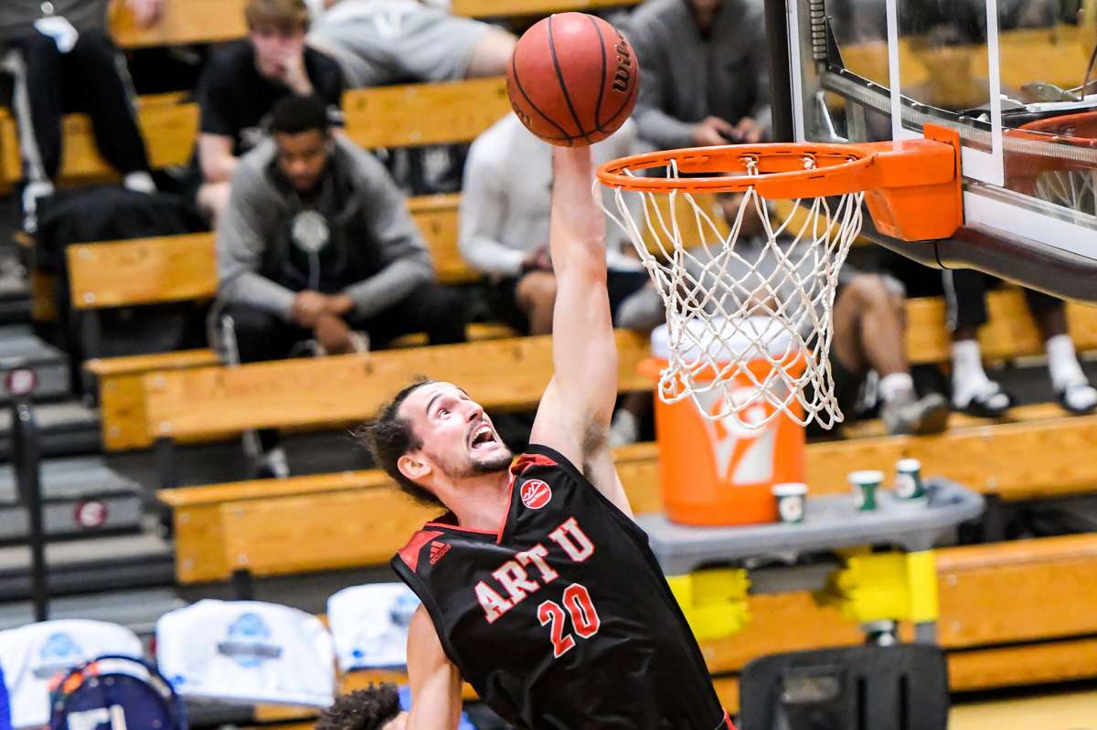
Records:
[[[415,700],[407,730],[456,730],[461,721],[461,672],[442,650],[430,614],[422,606],[408,627],[408,681]]]

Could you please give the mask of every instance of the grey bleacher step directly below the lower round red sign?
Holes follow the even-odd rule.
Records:
[[[23,545],[0,548],[0,596],[23,601],[31,595],[31,552]],[[152,525],[139,533],[101,535],[46,546],[53,595],[162,588],[174,583],[171,544]]]

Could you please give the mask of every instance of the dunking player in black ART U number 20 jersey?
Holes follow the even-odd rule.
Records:
[[[400,391],[365,430],[381,464],[450,512],[393,559],[411,619],[409,730],[452,730],[462,677],[530,730],[732,727],[693,635],[633,522],[607,432],[618,357],[604,218],[588,148],[554,150],[555,375],[511,465],[451,383]]]

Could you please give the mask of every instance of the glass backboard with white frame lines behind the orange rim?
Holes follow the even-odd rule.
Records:
[[[798,141],[957,129],[959,238],[1088,266],[1093,294],[1065,295],[1097,299],[1097,0],[767,2],[785,23],[771,44],[787,33]]]

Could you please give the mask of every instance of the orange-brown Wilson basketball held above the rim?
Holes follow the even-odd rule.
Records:
[[[557,13],[522,34],[507,69],[514,114],[541,139],[581,147],[606,139],[636,105],[640,65],[615,27]]]

